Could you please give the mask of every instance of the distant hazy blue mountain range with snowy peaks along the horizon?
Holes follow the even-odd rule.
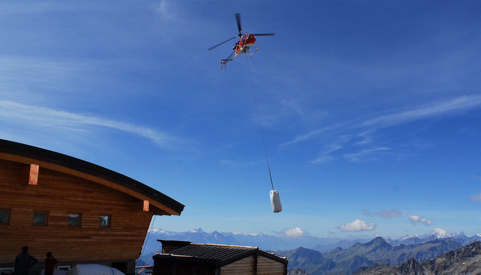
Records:
[[[146,253],[143,254],[141,260],[147,262],[158,250],[160,243],[157,242],[157,239],[256,246],[287,257],[288,269],[304,269],[310,275],[334,275],[352,274],[359,268],[373,265],[381,268],[396,266],[409,260],[417,263],[423,262],[447,251],[453,251],[474,241],[479,241],[481,233],[465,236],[463,232],[450,232],[438,228],[423,235],[406,235],[398,239],[381,237],[340,239],[312,236],[288,238],[263,233],[241,234],[218,231],[207,233],[201,228],[185,232],[150,228],[144,244]],[[292,249],[294,247],[297,248]]]

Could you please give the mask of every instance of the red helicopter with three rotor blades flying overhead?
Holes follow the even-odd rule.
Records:
[[[275,33],[271,33],[271,34],[251,34],[251,33],[242,33],[242,28],[241,28],[241,13],[236,13],[235,14],[236,16],[236,21],[237,21],[237,28],[239,30],[239,34],[237,36],[234,36],[220,44],[217,44],[215,45],[214,47],[212,48],[208,48],[207,50],[211,50],[213,48],[217,48],[218,46],[236,38],[236,37],[240,37],[239,38],[239,41],[236,42],[236,44],[234,45],[234,47],[232,48],[232,53],[229,55],[229,57],[227,59],[221,59],[219,60],[220,61],[220,68],[222,69],[222,71],[225,71],[226,68],[227,68],[227,62],[228,61],[232,61],[234,60],[238,55],[240,54],[249,54],[249,58],[251,58],[253,56],[253,54],[261,47],[260,45],[258,47],[255,47],[253,46],[254,45],[254,42],[256,40],[255,36],[273,36],[275,35]],[[253,47],[255,48],[255,51],[253,53],[251,53],[249,51],[249,49]]]

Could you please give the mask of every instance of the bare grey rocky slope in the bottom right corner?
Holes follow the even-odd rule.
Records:
[[[397,266],[382,263],[362,267],[353,275],[481,275],[481,242],[475,241],[455,251],[419,263],[409,258]]]

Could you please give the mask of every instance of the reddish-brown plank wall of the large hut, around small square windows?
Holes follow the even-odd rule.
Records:
[[[0,159],[0,207],[11,209],[10,225],[0,225],[0,263],[13,263],[25,245],[39,260],[47,251],[61,262],[139,257],[153,215],[141,201],[42,165],[38,185],[22,186],[24,166]],[[48,226],[32,225],[34,210],[49,212]],[[67,226],[69,213],[82,214],[81,227]],[[99,228],[99,215],[112,215],[111,228]]]

